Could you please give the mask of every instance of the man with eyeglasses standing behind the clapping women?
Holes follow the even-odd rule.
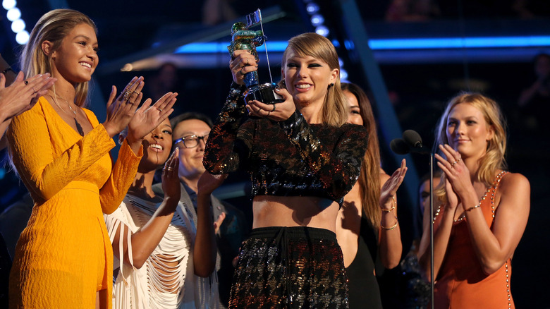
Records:
[[[197,224],[197,185],[200,176],[206,171],[202,165],[204,145],[212,128],[212,120],[208,116],[195,112],[178,115],[170,120],[172,126],[172,147],[180,149],[180,164],[178,174],[181,183],[180,201],[188,207]],[[155,193],[162,194],[161,183],[153,186]],[[229,291],[233,279],[233,259],[237,257],[249,227],[245,215],[233,205],[221,202],[212,195],[212,212],[216,226],[218,257],[216,271],[219,280],[219,295],[221,304],[227,306]]]

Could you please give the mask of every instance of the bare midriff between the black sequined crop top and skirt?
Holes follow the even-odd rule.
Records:
[[[253,229],[308,226],[336,232],[338,202],[311,196],[259,195],[253,200]]]

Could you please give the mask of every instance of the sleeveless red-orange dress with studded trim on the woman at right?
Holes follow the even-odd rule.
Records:
[[[505,174],[503,172],[496,176],[481,201],[480,208],[491,229],[494,194]],[[434,231],[440,223],[441,220],[436,219]],[[484,274],[472,246],[468,220],[464,218],[454,223],[443,264],[435,281],[434,308],[515,308],[510,292],[511,262],[510,258],[496,272]]]

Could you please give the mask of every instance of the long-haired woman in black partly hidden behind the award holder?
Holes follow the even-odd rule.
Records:
[[[382,308],[374,263],[380,257],[386,268],[401,260],[401,231],[397,220],[396,191],[407,167],[390,177],[380,167],[377,125],[369,99],[363,90],[342,83],[349,104],[348,122],[364,126],[369,133],[367,152],[359,180],[344,197],[336,219],[336,238],[342,248],[348,277],[350,308]]]

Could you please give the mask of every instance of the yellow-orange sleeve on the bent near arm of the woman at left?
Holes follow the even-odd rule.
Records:
[[[49,104],[41,97],[40,104]],[[13,118],[6,133],[13,164],[35,200],[48,200],[115,146],[96,126],[61,155],[54,155],[42,106]]]

